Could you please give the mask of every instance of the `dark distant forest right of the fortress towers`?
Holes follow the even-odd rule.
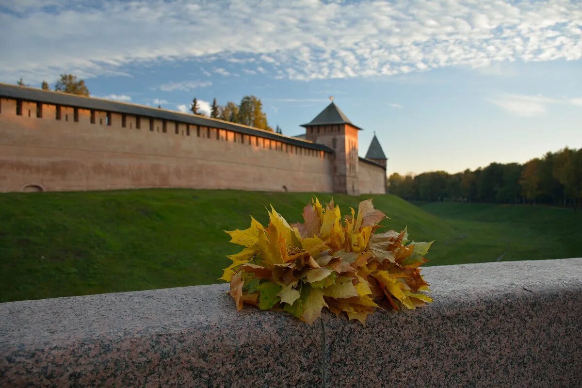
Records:
[[[491,163],[474,171],[417,176],[393,173],[388,190],[406,200],[582,205],[582,148],[548,152],[527,163]]]

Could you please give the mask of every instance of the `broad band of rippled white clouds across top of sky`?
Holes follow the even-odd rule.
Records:
[[[582,58],[582,3],[567,0],[112,0],[98,6],[63,0],[50,7],[9,2],[3,9],[2,35],[10,37],[0,40],[5,81],[51,81],[62,72],[126,74],[129,64],[176,59],[254,59],[258,72],[266,67],[276,78],[307,80]],[[256,15],[268,18],[258,22]]]

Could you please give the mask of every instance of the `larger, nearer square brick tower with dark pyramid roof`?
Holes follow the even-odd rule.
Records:
[[[333,191],[335,193],[359,194],[358,181],[358,131],[360,127],[350,122],[333,103],[327,106],[310,123],[303,124],[306,140],[327,145],[333,149]]]

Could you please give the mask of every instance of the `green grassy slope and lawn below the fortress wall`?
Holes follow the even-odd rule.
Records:
[[[329,194],[318,194],[322,201]],[[374,197],[391,229],[436,240],[428,265],[582,257],[582,212],[527,205],[413,205],[334,195],[343,212]],[[306,193],[151,189],[0,194],[0,301],[217,283],[239,247],[222,230],[300,220]]]

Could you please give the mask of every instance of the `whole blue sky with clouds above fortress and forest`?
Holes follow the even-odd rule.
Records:
[[[329,97],[388,173],[582,147],[582,1],[0,0],[0,82],[186,111],[255,95],[304,133]]]

